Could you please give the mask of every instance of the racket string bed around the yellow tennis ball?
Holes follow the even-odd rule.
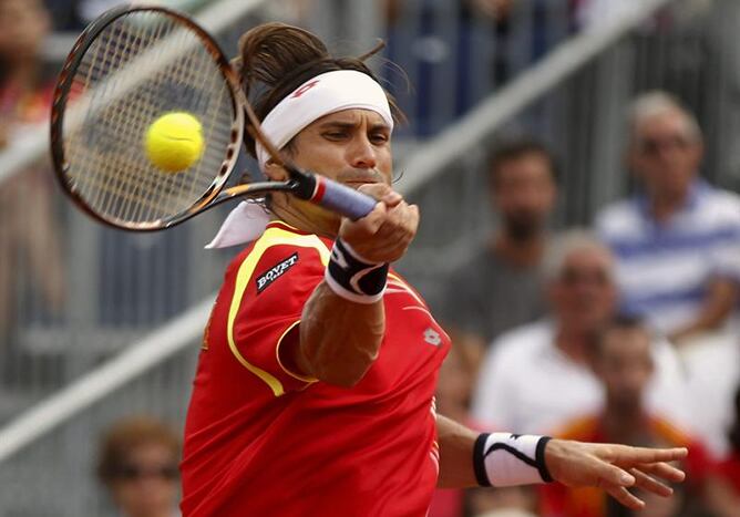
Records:
[[[162,12],[126,13],[97,35],[72,81],[84,115],[80,124],[65,120],[68,180],[94,211],[146,224],[187,210],[212,189],[232,144],[234,102],[194,31]],[[150,163],[144,139],[173,111],[201,121],[205,148],[191,167],[167,174]]]

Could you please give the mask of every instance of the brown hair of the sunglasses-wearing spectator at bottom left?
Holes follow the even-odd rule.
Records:
[[[131,452],[150,444],[163,445],[174,461],[179,461],[179,436],[164,423],[150,416],[132,416],[113,424],[100,444],[96,467],[100,482],[110,487]]]

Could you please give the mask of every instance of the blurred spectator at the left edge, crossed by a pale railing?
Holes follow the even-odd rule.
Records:
[[[50,25],[41,0],[0,0],[0,153],[38,131],[49,116],[53,84],[44,77],[40,49]],[[4,344],[18,317],[18,276],[32,277],[54,311],[64,298],[60,231],[45,167],[0,183],[0,344]]]

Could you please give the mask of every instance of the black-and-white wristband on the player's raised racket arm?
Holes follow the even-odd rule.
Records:
[[[370,263],[341,239],[335,241],[325,280],[342,298],[359,303],[380,300],[386,290],[388,263]]]

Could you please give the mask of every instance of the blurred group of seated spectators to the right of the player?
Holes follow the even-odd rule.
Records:
[[[626,115],[639,186],[590,228],[551,230],[561,172],[542,143],[492,149],[499,225],[433,302],[454,343],[438,404],[480,428],[688,446],[688,483],[649,515],[737,516],[740,196],[699,175],[703,136],[676,97]],[[434,515],[624,515],[596,489],[456,497]]]

